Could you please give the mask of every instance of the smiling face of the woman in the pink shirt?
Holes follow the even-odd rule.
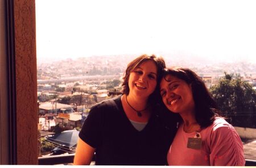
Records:
[[[160,94],[166,107],[174,113],[190,113],[195,109],[191,85],[167,75],[160,83]]]

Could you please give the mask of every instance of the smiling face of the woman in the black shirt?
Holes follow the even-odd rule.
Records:
[[[153,61],[145,61],[129,76],[129,95],[148,98],[155,91],[157,69]]]

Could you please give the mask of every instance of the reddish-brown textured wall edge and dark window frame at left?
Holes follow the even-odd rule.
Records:
[[[37,165],[35,0],[1,0],[1,8],[5,10],[1,43],[6,50],[0,55],[1,80],[5,80],[1,83],[0,163]]]

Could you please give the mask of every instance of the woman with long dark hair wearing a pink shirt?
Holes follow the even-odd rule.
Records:
[[[168,68],[160,95],[181,122],[167,154],[171,166],[244,166],[240,136],[224,118],[203,80],[188,68]]]

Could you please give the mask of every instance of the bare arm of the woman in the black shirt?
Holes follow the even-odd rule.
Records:
[[[90,165],[94,152],[95,149],[79,137],[73,165]]]

